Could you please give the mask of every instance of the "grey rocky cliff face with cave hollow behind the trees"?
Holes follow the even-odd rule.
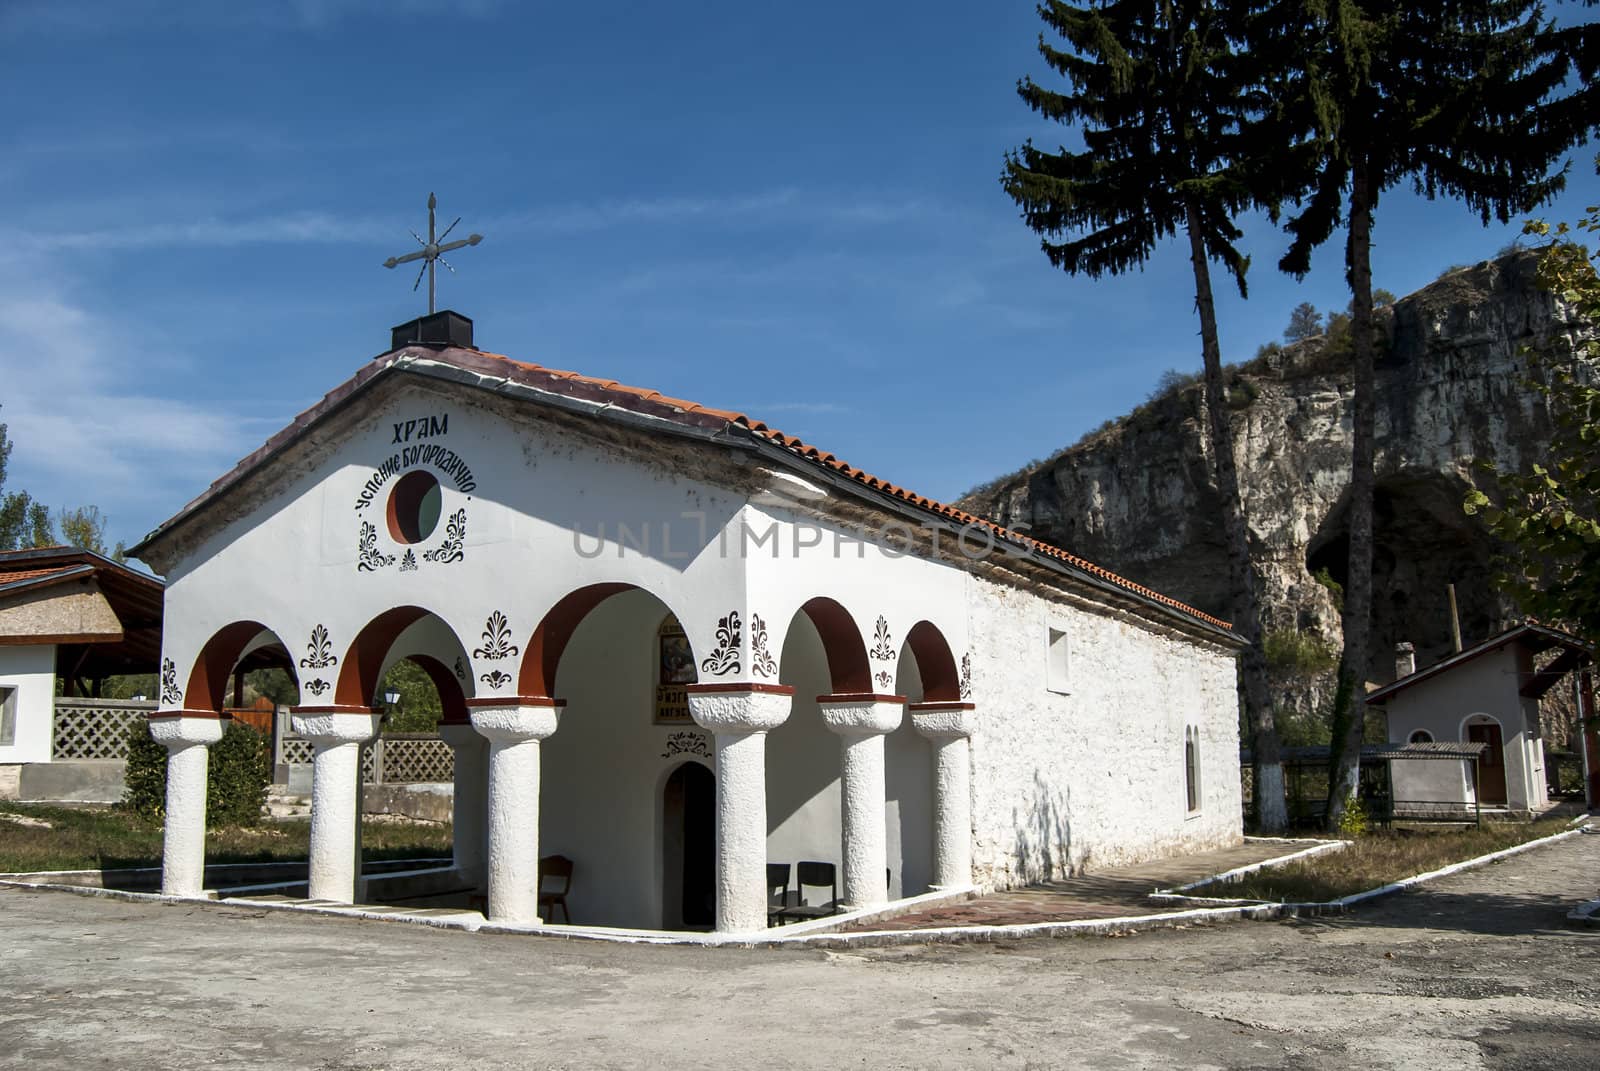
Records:
[[[1522,469],[1549,439],[1544,400],[1525,386],[1523,347],[1573,360],[1592,330],[1536,287],[1536,261],[1523,251],[1458,269],[1379,311],[1371,680],[1394,677],[1397,642],[1416,644],[1419,666],[1450,652],[1451,583],[1466,644],[1514,618],[1490,588],[1499,551],[1462,512],[1462,495],[1474,458]],[[1229,381],[1264,626],[1338,644],[1338,596],[1315,575],[1346,578],[1349,339],[1296,343]],[[962,506],[1229,618],[1203,407],[1198,384],[1170,392]],[[1278,676],[1283,706],[1325,698],[1299,674]]]

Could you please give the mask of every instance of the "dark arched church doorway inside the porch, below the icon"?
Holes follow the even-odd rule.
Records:
[[[717,921],[717,778],[685,762],[661,791],[662,929],[709,930]]]

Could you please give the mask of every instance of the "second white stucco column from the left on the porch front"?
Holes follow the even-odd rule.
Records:
[[[294,732],[312,741],[310,887],[312,900],[355,903],[360,877],[357,831],[362,820],[362,744],[378,735],[365,706],[301,706]]]

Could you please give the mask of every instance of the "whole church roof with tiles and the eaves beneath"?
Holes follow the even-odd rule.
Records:
[[[184,506],[178,514],[163,522],[155,531],[147,535],[130,552],[139,554],[162,535],[178,527],[208,503],[224,495],[229,488],[243,480],[250,472],[262,466],[280,450],[307,434],[314,426],[331,416],[336,410],[350,402],[358,392],[366,391],[378,378],[390,371],[434,376],[462,383],[470,387],[491,391],[506,397],[536,405],[552,405],[568,410],[581,410],[598,419],[622,421],[661,431],[675,427],[698,439],[714,439],[725,445],[744,442],[782,459],[789,467],[800,471],[821,471],[829,477],[848,480],[867,496],[891,499],[909,506],[914,511],[939,517],[955,525],[973,525],[994,536],[997,544],[1019,549],[1027,556],[1045,562],[1058,573],[1074,575],[1091,583],[1120,591],[1150,607],[1166,613],[1176,613],[1190,626],[1198,624],[1203,631],[1214,634],[1224,642],[1237,645],[1232,626],[1221,618],[1189,607],[1171,596],[1146,588],[1139,583],[1118,576],[1117,573],[1088,562],[1069,551],[1051,546],[1032,536],[1005,528],[986,517],[968,514],[955,506],[939,503],[933,498],[917,495],[904,487],[898,487],[885,479],[872,475],[842,458],[824,451],[795,435],[787,435],[770,424],[754,419],[736,410],[722,410],[685,399],[675,399],[646,387],[634,387],[616,379],[600,379],[576,371],[546,368],[542,365],[514,360],[501,354],[488,354],[477,349],[456,346],[403,346],[387,354],[381,354],[362,367],[354,376],[330,391],[320,402],[296,416],[288,427],[272,435],[261,448],[243,458],[234,469],[221,475],[198,498]],[[466,373],[466,375],[462,375]],[[632,419],[629,419],[632,418]]]

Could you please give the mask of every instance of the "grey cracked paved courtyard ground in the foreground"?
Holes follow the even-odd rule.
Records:
[[[1570,837],[1341,919],[851,953],[0,890],[0,1066],[1600,1068]]]

